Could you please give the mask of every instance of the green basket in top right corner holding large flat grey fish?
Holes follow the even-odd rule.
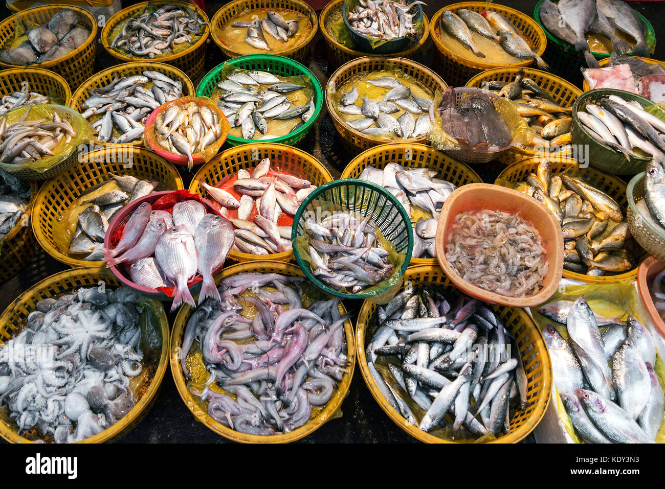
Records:
[[[543,59],[549,64],[551,72],[556,73],[565,80],[581,87],[583,76],[580,68],[587,68],[587,62],[585,61],[584,56],[576,51],[573,46],[565,41],[561,41],[561,39],[547,31],[540,18],[541,3],[543,3],[543,0],[539,0],[533,8],[533,19],[543,28],[545,36],[547,36],[547,48],[543,54]],[[639,12],[637,12],[637,15],[642,19],[644,25],[646,25],[646,33],[644,35],[646,45],[649,47],[650,52],[654,52],[656,49],[656,33],[654,27],[644,15]],[[610,56],[606,52],[591,51],[591,54],[597,59],[608,58]]]

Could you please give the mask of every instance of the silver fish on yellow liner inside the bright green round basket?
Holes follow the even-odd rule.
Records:
[[[295,132],[311,119],[313,92],[309,77],[235,70],[217,82],[211,98],[231,124],[229,135],[269,140]]]

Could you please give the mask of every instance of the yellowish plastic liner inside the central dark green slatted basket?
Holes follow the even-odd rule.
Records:
[[[329,201],[323,201],[319,199],[313,200],[311,202],[311,206],[313,209],[321,209],[320,211],[321,213],[338,213],[340,212],[340,210],[343,211],[348,210],[348,209],[340,209],[338,205],[335,205]],[[319,211],[316,212],[318,215]],[[366,215],[362,215],[362,213],[356,213],[356,217],[358,217],[359,219],[364,219]],[[307,233],[307,229],[305,229],[305,233],[303,233],[293,241],[293,246],[294,248],[296,248],[299,256],[301,257],[301,260],[307,262],[311,270],[314,271],[316,270],[317,267],[312,262],[312,259],[309,257],[309,251],[308,251],[309,239],[311,239],[311,235],[309,235]],[[390,264],[392,264],[394,268],[390,276],[388,276],[388,278],[385,278],[381,282],[378,282],[378,284],[376,285],[364,288],[362,290],[362,293],[363,294],[375,293],[374,296],[367,297],[366,300],[374,302],[374,304],[386,304],[390,299],[392,299],[395,296],[395,294],[397,294],[398,290],[400,290],[400,286],[402,285],[402,274],[400,273],[400,270],[402,270],[402,265],[404,265],[404,260],[406,259],[406,253],[399,253],[395,249],[395,246],[393,246],[392,243],[390,243],[390,241],[388,241],[388,239],[386,239],[384,235],[382,235],[378,226],[376,226],[376,239],[380,243],[380,246],[384,248],[384,250],[388,251],[388,262],[390,262]],[[360,263],[358,262],[358,264]],[[351,290],[347,290],[345,288],[340,289],[340,292],[344,292],[346,294],[353,293]]]

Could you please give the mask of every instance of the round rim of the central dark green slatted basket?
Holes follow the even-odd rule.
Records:
[[[406,256],[404,257],[404,263],[402,264],[402,268],[400,268],[399,272],[397,270],[393,272],[393,274],[399,273],[401,277],[402,275],[404,275],[406,268],[408,268],[409,266],[409,262],[411,260],[411,253],[414,247],[414,237],[413,237],[413,228],[411,225],[411,219],[409,219],[408,214],[404,210],[402,204],[400,204],[400,201],[398,201],[396,197],[392,195],[392,193],[388,192],[380,185],[376,185],[375,183],[359,180],[356,178],[346,178],[346,179],[334,180],[329,183],[325,183],[324,185],[321,185],[321,187],[317,187],[312,193],[307,195],[307,198],[305,198],[303,203],[301,203],[300,207],[298,207],[298,211],[296,215],[293,217],[293,226],[291,227],[291,241],[294,242],[297,239],[297,237],[299,237],[298,228],[300,227],[300,221],[303,218],[303,213],[305,212],[305,209],[307,209],[310,203],[328,189],[334,189],[335,187],[342,187],[342,185],[347,185],[347,186],[356,185],[356,187],[367,187],[368,189],[376,191],[376,193],[382,195],[386,199],[386,201],[389,201],[390,203],[392,203],[394,207],[396,207],[396,209],[402,216],[402,221],[404,223],[407,223],[405,227],[406,227],[406,234],[408,236],[407,240],[408,242],[406,244]],[[331,288],[326,284],[324,284],[323,282],[321,282],[321,280],[319,280],[312,274],[309,263],[305,262],[303,258],[301,258],[295,246],[293,247],[293,255],[295,256],[295,260],[298,263],[298,266],[305,273],[305,276],[307,276],[307,278],[309,278],[309,280],[311,280],[313,284],[315,284],[317,287],[319,287],[327,294],[331,294],[336,297],[341,297],[342,299],[365,299],[368,297],[374,297],[378,294],[378,291],[369,292],[369,293],[358,292],[358,294],[345,294],[344,292],[338,292],[337,290],[334,290],[334,288]]]

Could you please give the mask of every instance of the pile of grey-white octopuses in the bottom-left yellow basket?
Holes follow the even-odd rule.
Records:
[[[18,434],[56,443],[94,437],[135,405],[142,306],[128,287],[79,288],[37,302],[0,346],[0,405]],[[24,435],[25,436],[25,435]]]

